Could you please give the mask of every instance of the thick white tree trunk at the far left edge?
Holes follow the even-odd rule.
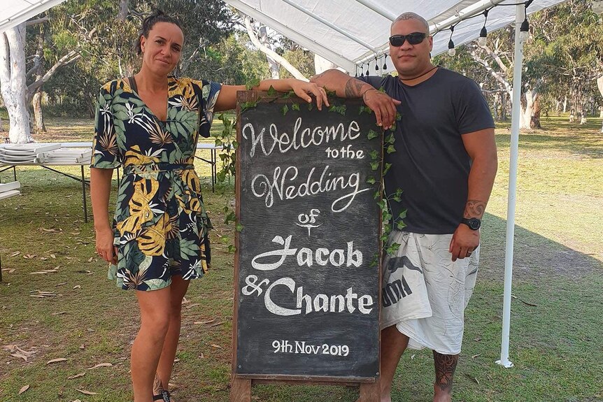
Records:
[[[25,24],[0,34],[0,90],[8,111],[11,143],[31,141],[25,85]]]

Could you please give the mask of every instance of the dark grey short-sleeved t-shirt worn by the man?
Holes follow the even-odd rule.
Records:
[[[407,210],[404,231],[453,233],[467,203],[471,168],[461,136],[494,127],[478,85],[442,68],[414,86],[392,76],[359,79],[402,101],[396,152],[385,153],[385,162],[392,164],[384,177],[385,193],[403,190],[401,202],[390,201],[392,215]]]

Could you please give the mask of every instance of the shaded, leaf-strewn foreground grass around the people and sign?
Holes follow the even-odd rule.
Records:
[[[10,357],[8,352],[0,355],[6,368],[0,371],[0,400],[16,401],[18,390],[26,384],[31,389],[18,396],[24,402],[57,400],[58,392],[60,400],[81,399],[76,388],[98,392],[85,399],[90,402],[129,400],[127,354],[138,324],[136,308],[132,308],[135,302],[131,293],[115,289],[106,280],[106,265],[91,258],[92,223],[80,221],[78,183],[58,177],[56,185],[50,186],[48,181],[56,176],[36,171],[17,172],[17,177],[28,196],[0,203],[0,252],[6,256],[6,267],[16,268],[0,284],[1,337],[3,345],[15,343],[24,350],[36,346],[38,352],[31,362]],[[220,234],[232,236],[219,215],[232,199],[232,188],[218,186],[215,194],[208,187],[204,190],[215,226]],[[515,367],[504,369],[494,361],[500,350],[506,222],[486,215],[483,227],[481,272],[465,314],[455,401],[602,401],[601,262],[516,228],[510,348]],[[206,278],[191,286],[187,299],[192,308],[183,311],[180,361],[174,378],[178,401],[229,400],[234,254],[212,236],[213,267]],[[22,254],[11,257],[17,250]],[[24,259],[26,253],[38,255]],[[56,259],[41,259],[50,253]],[[58,273],[31,275],[57,265]],[[31,298],[34,289],[61,295]],[[199,324],[211,320],[222,324]],[[69,361],[49,370],[45,362],[57,357]],[[113,367],[87,370],[104,361]],[[84,378],[67,379],[83,371],[87,372]],[[393,400],[430,401],[433,376],[431,352],[409,350],[395,378]],[[352,402],[357,390],[274,385],[255,387],[253,396],[263,402]]]

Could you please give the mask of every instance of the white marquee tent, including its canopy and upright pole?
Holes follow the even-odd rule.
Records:
[[[61,3],[64,0],[2,0],[0,33]],[[211,1],[211,0],[210,0]],[[484,17],[473,15],[488,11],[485,25],[494,31],[516,23],[515,62],[522,63],[523,41],[520,24],[529,15],[564,0],[225,0],[242,13],[253,17],[275,31],[299,43],[304,48],[346,69],[350,74],[383,73],[392,63],[387,62],[390,24],[397,15],[413,11],[425,17],[434,36],[433,55],[448,50],[450,27],[452,39],[461,45],[478,37]],[[506,6],[505,6],[506,5]],[[527,5],[527,8],[525,7]],[[513,69],[513,88],[521,87],[521,69]],[[504,307],[501,358],[497,363],[513,366],[509,361],[509,324],[511,315],[511,278],[513,272],[513,236],[515,229],[515,201],[517,155],[519,138],[520,91],[513,91],[511,123],[511,161],[509,164],[509,206],[505,254]]]

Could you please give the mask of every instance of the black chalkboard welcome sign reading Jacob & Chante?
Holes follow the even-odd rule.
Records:
[[[258,97],[239,92],[234,374],[375,379],[375,117],[343,99],[319,111],[264,97],[241,111]]]

